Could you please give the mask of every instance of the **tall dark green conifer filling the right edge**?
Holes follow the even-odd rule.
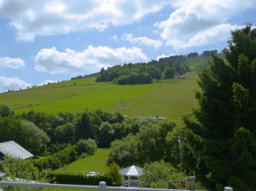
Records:
[[[231,33],[227,62],[216,55],[200,73],[200,108],[184,119],[187,171],[207,187],[255,189],[256,177],[256,29]]]

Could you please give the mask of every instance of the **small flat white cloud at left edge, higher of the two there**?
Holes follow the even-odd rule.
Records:
[[[25,62],[21,58],[0,57],[0,67],[19,69],[25,67],[25,65]]]

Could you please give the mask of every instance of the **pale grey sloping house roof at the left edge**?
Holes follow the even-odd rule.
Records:
[[[26,151],[26,149],[14,141],[0,143],[0,152],[5,155],[10,154],[12,157],[21,159],[34,157],[33,154],[31,154],[29,151]]]

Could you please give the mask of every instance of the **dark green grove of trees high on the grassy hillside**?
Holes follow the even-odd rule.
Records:
[[[193,55],[193,54],[192,54]],[[151,61],[147,63],[128,63],[123,66],[117,65],[108,70],[101,70],[96,82],[114,82],[117,84],[149,84],[152,79],[161,79],[162,76],[172,78],[167,75],[175,73],[184,74],[189,71],[188,65],[184,65],[184,55],[169,56],[162,58],[159,61]],[[167,70],[167,69],[171,70]]]

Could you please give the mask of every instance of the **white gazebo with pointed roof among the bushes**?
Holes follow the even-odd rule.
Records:
[[[119,174],[123,175],[123,187],[139,187],[139,180],[131,180],[131,177],[138,179],[143,174],[143,169],[137,165],[131,165],[120,170]],[[128,180],[125,180],[124,176],[128,177]]]

